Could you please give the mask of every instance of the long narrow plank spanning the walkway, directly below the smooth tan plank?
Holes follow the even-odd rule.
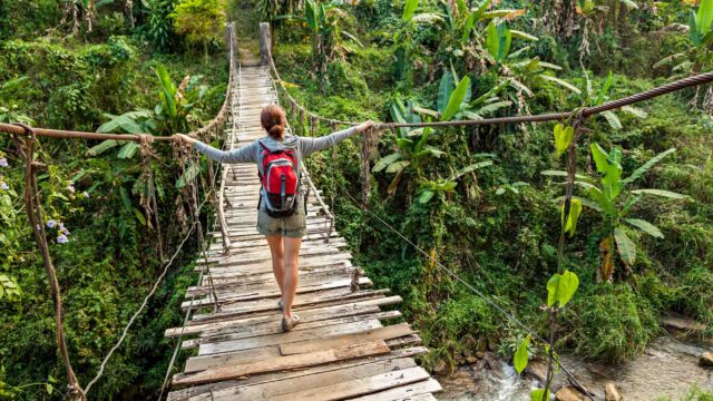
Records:
[[[211,394],[211,392],[231,389],[235,387],[247,387],[247,385],[257,385],[268,382],[279,382],[286,379],[293,378],[306,378],[311,374],[321,373],[321,372],[331,372],[339,371],[343,369],[349,369],[351,366],[358,366],[363,364],[370,364],[374,362],[381,361],[390,361],[394,359],[403,359],[403,358],[413,358],[418,355],[423,355],[428,352],[428,349],[423,346],[414,346],[410,349],[403,350],[394,350],[391,353],[375,356],[368,356],[348,361],[341,361],[336,363],[319,365],[313,368],[307,368],[299,371],[284,371],[284,372],[274,372],[274,373],[265,373],[265,374],[256,374],[250,378],[240,379],[240,380],[225,380],[221,382],[209,383],[209,384],[201,384],[183,390],[173,391],[168,395],[168,400],[172,401],[186,401],[191,397],[198,397],[199,394]]]

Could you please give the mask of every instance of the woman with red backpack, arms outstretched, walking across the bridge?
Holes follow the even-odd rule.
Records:
[[[262,182],[257,231],[270,244],[272,270],[282,293],[279,303],[283,312],[282,330],[287,332],[300,322],[300,317],[292,314],[292,304],[297,290],[300,246],[306,234],[305,199],[296,184],[302,158],[334,146],[354,134],[364,133],[373,123],[365,121],[325,137],[305,138],[285,136],[285,113],[280,106],[265,106],[260,119],[267,136],[240,149],[223,151],[186,135],[176,136],[212,160],[257,164]],[[275,187],[277,189],[271,189]]]

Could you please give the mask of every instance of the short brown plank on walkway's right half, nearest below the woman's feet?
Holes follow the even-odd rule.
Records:
[[[354,334],[335,335],[329,339],[316,339],[294,343],[283,343],[280,352],[283,355],[311,353],[325,348],[340,348],[345,344],[362,343],[375,340],[390,340],[416,333],[408,323],[373,329]]]

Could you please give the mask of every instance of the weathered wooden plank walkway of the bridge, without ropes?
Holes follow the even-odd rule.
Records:
[[[225,133],[233,148],[265,136],[261,109],[277,101],[268,67],[250,51],[240,53]],[[417,332],[407,323],[387,325],[401,313],[384,307],[401,297],[372,288],[352,265],[306,170],[303,185],[314,189],[294,304],[302,323],[281,332],[281,292],[267,243],[255,228],[257,168],[224,168],[226,229],[212,234],[216,241],[197,267],[209,267],[209,274],[188,288],[182,305],[198,312],[185,326],[166,331],[182,339],[183,349],[197,350],[173,376],[168,400],[432,400],[441,388],[413,361],[427,352]]]

